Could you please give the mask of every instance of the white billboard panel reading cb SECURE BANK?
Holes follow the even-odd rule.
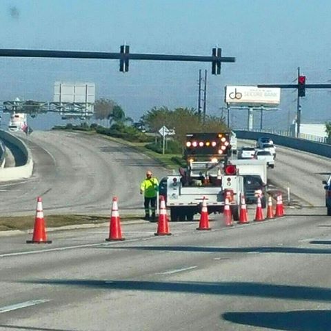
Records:
[[[225,103],[229,106],[279,106],[280,88],[257,86],[225,86]]]

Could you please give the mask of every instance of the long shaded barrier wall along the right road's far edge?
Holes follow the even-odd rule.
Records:
[[[257,140],[259,137],[270,137],[275,145],[294,148],[294,150],[303,150],[312,154],[321,155],[323,157],[331,157],[331,145],[326,143],[318,143],[317,141],[310,141],[300,138],[279,136],[278,134],[234,130],[239,139]]]

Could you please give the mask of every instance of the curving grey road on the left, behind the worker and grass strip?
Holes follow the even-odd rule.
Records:
[[[114,196],[123,212],[137,214],[146,170],[157,177],[167,174],[154,160],[97,136],[41,131],[26,143],[34,160],[32,177],[0,183],[0,214],[33,213],[39,196],[44,210],[57,214],[109,214]]]

